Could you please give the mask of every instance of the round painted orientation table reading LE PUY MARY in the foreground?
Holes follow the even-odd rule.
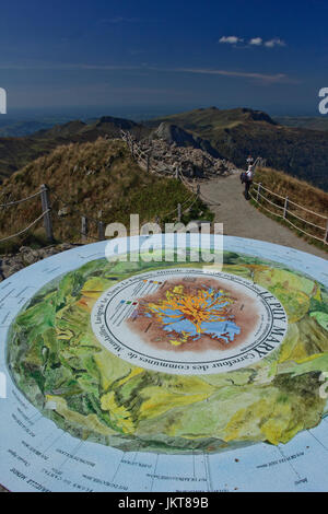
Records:
[[[117,261],[81,246],[1,282],[7,489],[328,489],[327,261],[225,236],[220,267],[197,237],[120,240]]]

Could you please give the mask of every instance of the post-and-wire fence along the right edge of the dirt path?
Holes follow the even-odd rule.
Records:
[[[328,244],[328,217],[296,203],[289,196],[271,191],[261,183],[253,183],[250,197],[261,209],[283,220],[302,234]],[[304,212],[306,214],[303,214]]]

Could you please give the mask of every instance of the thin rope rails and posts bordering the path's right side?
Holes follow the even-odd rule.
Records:
[[[277,218],[280,218],[282,219],[283,221],[285,221],[286,223],[289,223],[291,226],[293,226],[295,230],[297,230],[298,232],[303,233],[304,235],[306,235],[307,237],[313,237],[314,240],[316,241],[319,241],[320,243],[324,243],[324,244],[328,244],[328,217],[325,217],[318,212],[315,212],[311,209],[307,209],[303,206],[301,206],[300,203],[296,203],[292,200],[289,199],[288,196],[283,197],[281,195],[278,195],[277,192],[274,191],[271,191],[270,189],[268,189],[267,187],[265,187],[261,183],[256,183],[254,182],[253,183],[253,186],[256,186],[256,188],[254,188],[251,191],[250,191],[250,197],[251,199],[261,208],[263,209],[265,211],[269,212],[270,214],[273,214],[276,215]],[[276,201],[272,201],[270,200],[267,196],[265,196],[262,194],[262,191],[266,191],[267,194],[271,195],[272,197],[276,197],[276,198],[279,198],[280,200],[283,201],[283,206],[279,205],[278,202]],[[282,214],[279,213],[279,212],[274,212],[272,211],[271,209],[268,209],[268,207],[263,206],[262,201],[260,200],[263,200],[265,202],[268,202],[270,206],[272,206],[274,209],[280,209],[282,211]],[[290,206],[294,206],[296,209],[301,209],[307,213],[309,213],[311,215],[314,215],[314,217],[318,217],[323,220],[326,221],[326,226],[321,226],[321,225],[318,225],[317,223],[315,223],[313,220],[307,220],[305,218],[302,218],[301,215],[298,215],[298,213],[296,214],[293,210],[290,209]],[[309,226],[313,226],[316,231],[320,231],[323,233],[323,236],[320,237],[318,234],[314,234],[314,233],[309,233],[307,230],[304,229],[304,226],[298,226],[296,225],[295,223],[293,223],[291,220],[290,220],[290,217],[294,218],[295,220],[297,220],[300,223],[302,224],[306,224],[306,225],[309,225]]]

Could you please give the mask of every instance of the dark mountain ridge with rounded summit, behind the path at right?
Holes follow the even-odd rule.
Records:
[[[283,127],[261,112],[220,110],[214,107],[152,120],[169,121],[208,139],[220,154],[245,166],[249,153],[267,159],[269,166],[328,190],[328,132]]]

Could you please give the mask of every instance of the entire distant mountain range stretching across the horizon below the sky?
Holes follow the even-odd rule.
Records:
[[[297,119],[300,126],[296,127]],[[98,137],[117,138],[122,128],[137,139],[161,137],[178,145],[201,148],[238,167],[245,167],[248,154],[259,155],[267,160],[268,166],[327,191],[328,130],[325,124],[326,118],[272,119],[261,110],[216,107],[165,116],[142,125],[110,116],[89,122],[74,120],[22,138],[0,137],[0,178],[60,144],[95,141]]]

